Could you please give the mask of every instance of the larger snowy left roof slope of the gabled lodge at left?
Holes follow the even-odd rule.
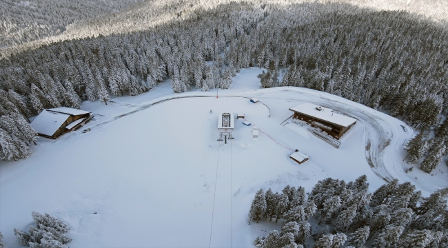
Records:
[[[53,136],[68,117],[70,117],[69,114],[43,110],[30,125],[38,134]]]

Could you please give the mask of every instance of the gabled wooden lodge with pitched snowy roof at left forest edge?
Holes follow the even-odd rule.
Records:
[[[62,134],[77,130],[93,118],[92,112],[70,107],[43,110],[31,123],[37,134],[45,138],[57,138]]]

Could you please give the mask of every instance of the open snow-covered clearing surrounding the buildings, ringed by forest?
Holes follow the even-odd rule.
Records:
[[[289,184],[309,192],[318,180],[363,174],[371,191],[391,178],[411,181],[423,196],[448,186],[445,165],[431,176],[403,162],[403,143],[414,130],[403,131],[402,121],[323,92],[260,89],[259,73],[241,70],[218,99],[216,91],[174,94],[166,81],[108,105],[83,103],[81,109],[95,115],[90,123],[55,141],[39,138],[26,160],[0,162],[6,245],[21,247],[13,228],[28,231],[37,211],[70,225],[70,247],[253,247],[256,236],[281,229],[280,222],[247,225],[260,188],[276,192]],[[250,103],[254,97],[261,103]],[[311,135],[309,125],[285,121],[289,108],[304,102],[358,120],[339,149]],[[235,139],[216,141],[218,114],[229,111],[245,113],[259,138],[238,119]],[[86,128],[91,131],[83,133]],[[309,161],[292,161],[295,149]]]

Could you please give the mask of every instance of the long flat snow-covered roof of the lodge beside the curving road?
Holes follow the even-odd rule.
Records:
[[[317,110],[316,107],[320,107],[320,110]],[[356,122],[356,118],[343,116],[342,114],[333,112],[332,109],[314,105],[312,103],[302,103],[301,105],[297,105],[296,107],[289,108],[289,110],[305,114],[307,116],[313,116],[314,118],[318,118],[322,121],[326,121],[328,123],[343,127],[348,127],[349,125],[352,125]]]

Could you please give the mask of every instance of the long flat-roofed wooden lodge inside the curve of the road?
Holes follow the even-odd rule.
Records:
[[[289,108],[294,112],[293,118],[306,121],[312,127],[318,127],[336,139],[347,132],[356,123],[356,119],[334,112],[327,107],[321,107],[312,103],[302,103]]]

